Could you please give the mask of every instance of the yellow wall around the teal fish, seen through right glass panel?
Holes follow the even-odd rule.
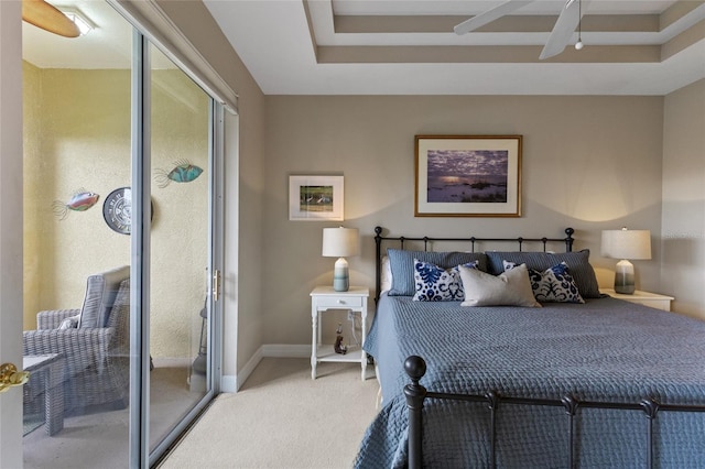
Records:
[[[193,356],[207,288],[208,98],[178,70],[156,70],[152,83],[150,351]],[[159,187],[159,172],[186,161],[204,172],[191,183]]]

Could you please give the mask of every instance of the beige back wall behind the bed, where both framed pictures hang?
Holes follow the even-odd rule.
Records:
[[[263,310],[265,343],[311,341],[310,297],[330,283],[322,228],[289,221],[290,174],[345,176],[345,222],[362,234],[351,283],[373,285],[373,227],[391,233],[555,236],[576,229],[604,286],[616,261],[599,255],[601,229],[650,229],[652,261],[636,261],[638,286],[659,291],[660,97],[267,98]],[[414,218],[415,134],[523,135],[521,218]],[[664,292],[669,293],[669,292]],[[335,325],[333,326],[335,327]]]

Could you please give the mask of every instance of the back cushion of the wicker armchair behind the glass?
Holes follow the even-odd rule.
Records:
[[[78,327],[105,327],[120,282],[129,277],[129,265],[90,275],[86,282],[86,297],[80,308]]]

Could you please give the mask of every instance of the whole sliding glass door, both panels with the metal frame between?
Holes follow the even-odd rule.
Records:
[[[102,26],[23,32],[24,465],[148,467],[216,391],[223,109],[82,13]]]

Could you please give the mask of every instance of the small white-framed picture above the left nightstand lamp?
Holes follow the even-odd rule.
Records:
[[[343,176],[289,176],[290,220],[343,220]]]

